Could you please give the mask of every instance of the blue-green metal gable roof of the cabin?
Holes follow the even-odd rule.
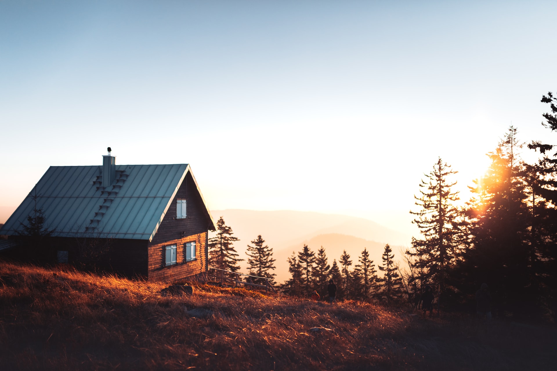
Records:
[[[102,185],[102,166],[51,166],[36,187],[0,228],[16,235],[35,207],[45,214],[52,236],[138,239],[151,241],[186,175],[192,176],[209,220],[207,209],[188,164],[116,165],[116,179]]]

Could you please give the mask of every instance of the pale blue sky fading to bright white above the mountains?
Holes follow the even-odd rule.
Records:
[[[509,125],[554,141],[556,2],[0,1],[0,222],[51,165],[188,163],[212,210],[413,227]],[[527,152],[523,157],[532,159]]]

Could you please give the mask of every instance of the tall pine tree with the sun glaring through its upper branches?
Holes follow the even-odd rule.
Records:
[[[516,151],[516,128],[510,127],[495,152],[486,175],[475,181],[474,197],[467,210],[470,246],[462,254],[454,281],[463,292],[487,283],[496,298],[494,309],[518,318],[541,315],[535,244],[531,240],[531,210],[527,204],[525,168]],[[534,258],[535,261],[538,260]]]

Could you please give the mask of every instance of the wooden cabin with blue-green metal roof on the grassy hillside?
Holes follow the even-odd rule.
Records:
[[[215,223],[190,166],[116,165],[108,150],[102,165],[49,167],[0,228],[3,246],[47,263],[96,257],[148,280],[206,275]],[[51,233],[33,249],[25,226],[37,210]]]

